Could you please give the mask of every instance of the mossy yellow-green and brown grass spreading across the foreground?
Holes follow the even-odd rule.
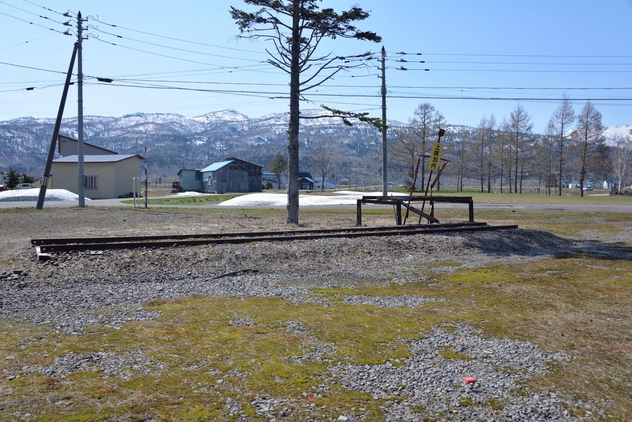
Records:
[[[262,219],[278,213],[283,211],[252,211]],[[346,214],[301,211],[303,218],[331,220]],[[367,219],[383,214],[386,211],[369,210]],[[456,210],[442,214],[448,220],[461,216]],[[477,221],[514,223],[562,237],[594,239],[603,251],[632,252],[632,244],[621,240],[632,233],[628,214],[477,211]],[[88,330],[92,335],[58,337],[41,325],[0,322],[0,356],[14,356],[24,366],[50,364],[53,357],[68,352],[143,349],[148,359],[165,367],[159,376],[139,374],[128,381],[105,380],[92,371],[63,379],[23,377],[4,383],[0,397],[13,402],[36,400],[38,413],[45,414],[47,421],[237,421],[238,415],[229,416],[223,406],[226,399],[239,401],[245,414],[255,415],[249,404],[255,394],[287,397],[297,406],[326,405],[319,411],[322,419],[337,418],[335,409],[353,406],[370,411],[374,416],[368,420],[383,421],[379,406],[385,405],[384,400],[326,382],[326,363],[294,364],[284,357],[301,356],[315,344],[333,343],[339,355],[345,356],[344,363],[384,363],[410,353],[406,343],[396,342],[398,338],[419,338],[435,324],[465,322],[482,328],[485,335],[528,340],[546,351],[574,356],[572,361],[550,366],[548,375],[536,376],[528,387],[562,391],[590,402],[593,408],[601,406],[605,413],[600,420],[632,420],[632,261],[581,252],[529,258],[497,259],[478,268],[439,262],[411,265],[412,273],[431,276],[432,283],[368,287],[363,280],[339,280],[355,284],[354,294],[449,299],[418,307],[323,307],[295,305],[281,298],[183,297],[147,304],[147,310],[162,311],[155,321],[128,323],[120,330],[94,327]],[[349,293],[343,289],[319,292],[332,301]],[[236,315],[251,316],[262,326],[229,324]],[[296,320],[312,332],[288,332],[283,324],[270,328],[277,321]],[[0,361],[0,369],[6,362]],[[224,376],[218,384],[214,369],[225,374],[236,370],[238,375]],[[327,395],[302,394],[320,383],[329,387]],[[245,390],[252,393],[239,392]],[[580,407],[569,411],[585,416]],[[298,419],[290,416],[287,420]]]

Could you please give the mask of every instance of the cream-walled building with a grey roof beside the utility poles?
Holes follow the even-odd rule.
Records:
[[[85,197],[112,199],[132,191],[132,180],[140,177],[138,154],[86,155],[83,156]],[[52,177],[49,189],[66,189],[77,194],[77,156],[66,156],[52,161]]]

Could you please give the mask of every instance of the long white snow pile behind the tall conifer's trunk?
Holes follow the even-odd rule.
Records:
[[[355,205],[357,199],[362,199],[363,195],[379,195],[381,192],[351,192],[341,190],[335,192],[343,194],[340,196],[325,195],[298,195],[299,206],[307,205]],[[393,193],[392,195],[404,195]],[[229,199],[217,204],[218,206],[286,206],[288,205],[287,194],[249,194]]]

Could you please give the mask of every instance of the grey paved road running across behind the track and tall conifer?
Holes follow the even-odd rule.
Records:
[[[97,207],[130,207],[123,204],[126,199],[94,199],[86,201],[88,206]],[[47,201],[44,208],[76,207],[78,201]],[[35,208],[35,201],[0,202],[0,208]],[[220,208],[220,209],[285,209],[284,206],[217,206],[217,205],[149,205],[150,208]],[[466,204],[437,204],[437,209],[467,209]],[[363,209],[391,209],[390,205],[363,204]],[[301,206],[301,209],[356,209],[355,205],[309,205]],[[632,205],[556,205],[556,204],[474,204],[474,209],[512,209],[535,211],[612,211],[620,213],[632,213]]]

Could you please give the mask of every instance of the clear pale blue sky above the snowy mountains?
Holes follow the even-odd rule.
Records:
[[[172,87],[262,92],[288,90],[286,75],[260,63],[265,60],[264,50],[270,46],[268,42],[234,39],[238,28],[229,16],[229,6],[252,9],[240,0],[112,0],[107,3],[40,0],[33,1],[35,4],[25,0],[0,1],[0,13],[10,15],[0,15],[0,61],[5,63],[56,71],[68,68],[73,37],[47,29],[63,31],[66,27],[37,15],[59,22],[68,19],[35,5],[38,4],[58,12],[81,9],[84,16],[98,16],[101,22],[118,25],[108,27],[92,18],[88,22],[101,31],[124,38],[90,29],[90,34],[98,35],[100,40],[119,46],[96,39],[85,41],[83,71],[86,75],[164,81],[147,84]],[[342,10],[354,3],[324,0],[322,5]],[[623,89],[632,88],[629,25],[632,0],[362,0],[358,4],[371,11],[370,18],[358,23],[358,27],[381,35],[391,58],[387,63],[390,67],[387,70],[391,96],[387,103],[389,118],[406,121],[420,102],[428,101],[446,116],[449,123],[477,125],[483,114],[494,113],[497,120],[501,120],[518,103],[513,100],[397,98],[401,96],[556,99],[566,92],[572,99],[606,99],[594,101],[602,111],[606,126],[632,124],[629,113],[632,101],[614,100],[632,98],[632,89]],[[121,27],[212,46],[179,42]],[[29,42],[25,44],[27,40]],[[379,51],[381,46],[338,39],[320,48],[323,53],[333,51],[337,55],[350,55]],[[422,55],[398,56],[396,53],[401,51]],[[424,60],[425,63],[396,61],[401,58]],[[410,70],[396,70],[399,66]],[[429,68],[430,71],[414,71],[413,68]],[[301,106],[315,108],[327,104],[380,116],[380,99],[376,97],[380,80],[376,73],[375,68],[368,68],[336,77],[318,93],[312,93],[310,99],[314,104]],[[59,73],[0,65],[0,91],[4,91],[0,92],[0,120],[19,116],[54,117],[61,87],[46,86],[61,82],[63,75]],[[200,115],[234,108],[254,118],[288,109],[286,99],[269,99],[274,94],[245,96],[95,85],[94,79],[87,82],[92,85],[86,85],[84,89],[86,115],[121,116],[135,112]],[[36,89],[27,91],[24,90],[26,87]],[[11,91],[15,89],[19,90]],[[319,93],[328,95],[318,96]],[[75,100],[76,89],[71,87],[64,116],[76,115]],[[535,130],[544,131],[557,102],[522,100],[521,103],[532,115]],[[576,111],[582,106],[583,101],[574,102]]]

